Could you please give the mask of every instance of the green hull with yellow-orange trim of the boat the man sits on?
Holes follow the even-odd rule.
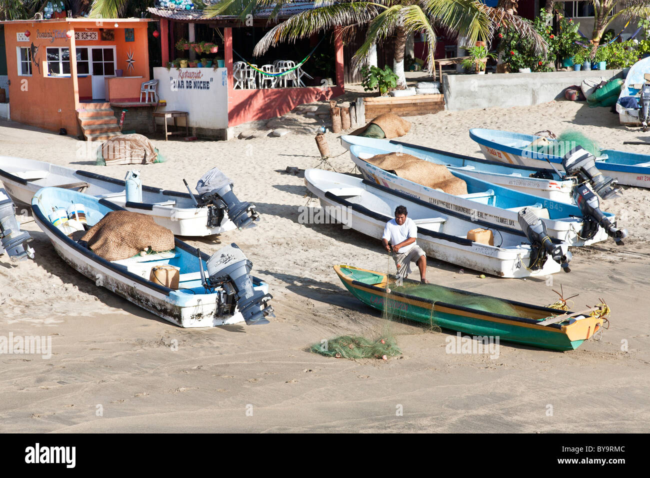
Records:
[[[383,312],[387,309],[392,315],[428,325],[434,324],[472,336],[498,337],[499,341],[521,343],[541,349],[568,351],[577,349],[603,325],[603,319],[595,317],[586,317],[569,325],[537,325],[534,322],[551,315],[557,315],[558,311],[530,304],[504,301],[516,305],[522,313],[527,313],[534,319],[525,321],[519,317],[469,309],[445,302],[434,303],[432,300],[398,293],[391,289],[387,293],[385,289],[387,280],[385,275],[379,272],[343,265],[335,266],[334,269],[343,285],[354,297],[376,310]],[[383,279],[376,284],[364,283],[372,282],[367,280],[369,274],[383,276]]]

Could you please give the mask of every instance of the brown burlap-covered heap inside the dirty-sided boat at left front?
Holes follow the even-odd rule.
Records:
[[[151,216],[131,211],[110,211],[81,240],[107,261],[130,258],[147,247],[155,252],[174,248],[174,233]]]

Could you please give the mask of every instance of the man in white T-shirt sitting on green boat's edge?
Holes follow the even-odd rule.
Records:
[[[395,219],[386,222],[383,228],[382,243],[388,252],[393,252],[393,259],[397,266],[397,276],[408,277],[411,273],[411,261],[417,263],[420,269],[420,282],[428,284],[426,280],[426,256],[424,251],[415,243],[417,226],[413,219],[407,217],[405,206],[395,208]],[[388,242],[391,242],[391,245]]]

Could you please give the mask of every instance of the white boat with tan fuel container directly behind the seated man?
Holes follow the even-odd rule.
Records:
[[[560,271],[560,263],[533,250],[521,230],[493,230],[493,245],[467,239],[480,224],[454,211],[427,204],[376,183],[320,169],[305,171],[305,185],[320,200],[323,211],[344,226],[381,239],[397,206],[406,206],[417,225],[417,244],[427,256],[498,277],[546,276]],[[558,241],[559,242],[559,241]],[[561,245],[566,256],[567,246]],[[532,267],[531,267],[532,266]]]

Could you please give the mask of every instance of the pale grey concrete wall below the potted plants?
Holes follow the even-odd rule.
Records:
[[[487,75],[443,75],[445,104],[449,111],[477,108],[510,108],[564,100],[567,86],[585,79],[606,80],[621,70],[590,72],[493,73]]]

